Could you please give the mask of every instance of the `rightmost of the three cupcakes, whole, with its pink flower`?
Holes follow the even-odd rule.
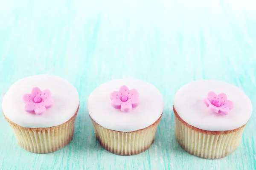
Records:
[[[219,159],[239,146],[252,104],[234,85],[201,80],[177,91],[173,111],[180,146],[192,155]]]

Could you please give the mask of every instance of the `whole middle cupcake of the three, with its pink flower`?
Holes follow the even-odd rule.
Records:
[[[147,150],[154,142],[163,98],[148,82],[116,79],[90,94],[87,109],[102,147],[129,156]]]

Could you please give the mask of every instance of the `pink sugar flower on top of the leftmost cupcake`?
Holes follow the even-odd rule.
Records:
[[[26,112],[35,112],[37,115],[46,112],[46,109],[53,105],[51,92],[47,89],[41,91],[38,87],[33,88],[31,94],[24,94],[23,102],[25,103],[24,110]]]

